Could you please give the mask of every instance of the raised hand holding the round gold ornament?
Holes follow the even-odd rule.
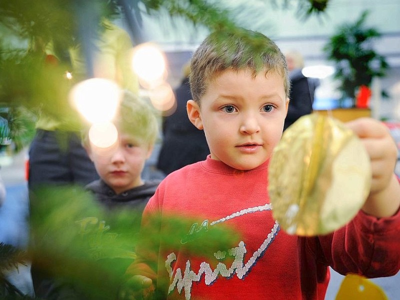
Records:
[[[393,215],[400,205],[400,184],[394,174],[397,147],[388,128],[372,118],[358,118],[346,125],[361,139],[371,161],[371,188],[362,209],[377,217]]]

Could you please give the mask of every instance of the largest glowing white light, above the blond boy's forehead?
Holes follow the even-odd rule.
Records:
[[[115,82],[91,78],[72,88],[70,100],[89,122],[99,123],[114,117],[120,96],[121,90]]]

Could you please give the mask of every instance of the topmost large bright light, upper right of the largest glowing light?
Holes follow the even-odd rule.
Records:
[[[153,43],[143,43],[134,48],[132,67],[143,85],[162,81],[166,73],[164,55]]]

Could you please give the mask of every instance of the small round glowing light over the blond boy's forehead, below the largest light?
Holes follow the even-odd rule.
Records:
[[[118,131],[111,122],[102,122],[91,125],[89,129],[90,142],[99,148],[108,148],[118,139]]]

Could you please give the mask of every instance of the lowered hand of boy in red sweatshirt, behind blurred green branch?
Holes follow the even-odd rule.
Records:
[[[152,280],[146,276],[134,275],[119,289],[119,300],[150,299],[153,291]]]

